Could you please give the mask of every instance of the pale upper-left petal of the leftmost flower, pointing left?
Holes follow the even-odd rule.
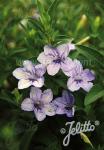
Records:
[[[29,75],[23,68],[17,68],[13,71],[13,76],[17,79],[28,79]]]

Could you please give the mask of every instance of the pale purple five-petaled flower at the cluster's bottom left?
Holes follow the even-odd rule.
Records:
[[[52,104],[53,93],[50,89],[43,93],[39,88],[32,87],[30,98],[24,99],[21,109],[25,111],[34,111],[38,121],[42,121],[47,116],[55,115],[55,109]]]

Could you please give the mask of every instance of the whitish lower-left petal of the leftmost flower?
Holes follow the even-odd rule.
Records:
[[[32,81],[26,80],[26,79],[21,79],[18,82],[18,89],[25,89],[25,88],[28,88],[31,85],[32,85]]]

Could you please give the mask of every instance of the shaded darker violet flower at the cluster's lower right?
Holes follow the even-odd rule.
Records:
[[[56,107],[56,114],[66,114],[67,117],[74,116],[74,97],[68,90],[64,90],[62,97],[56,98],[53,104]]]

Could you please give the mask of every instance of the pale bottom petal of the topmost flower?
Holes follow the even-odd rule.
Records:
[[[60,70],[60,64],[58,63],[51,63],[47,66],[47,72],[49,75],[54,76]]]

